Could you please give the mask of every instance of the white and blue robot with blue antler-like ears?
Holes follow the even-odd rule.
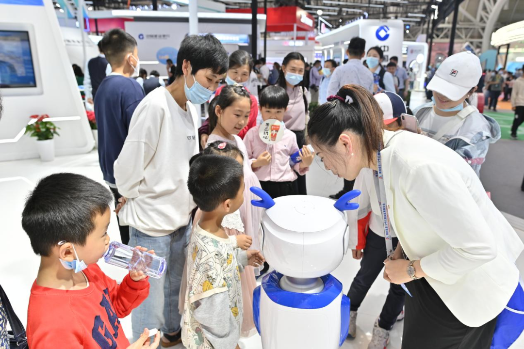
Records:
[[[275,200],[252,187],[265,208],[260,248],[275,268],[254,290],[253,317],[264,349],[335,349],[347,336],[350,299],[342,283],[329,273],[347,252],[348,201],[361,193],[353,190],[333,205],[318,196],[292,195]]]

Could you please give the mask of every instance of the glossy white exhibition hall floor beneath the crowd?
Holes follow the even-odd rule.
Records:
[[[2,257],[0,258],[0,284],[10,297],[13,307],[23,323],[26,323],[27,320],[29,290],[36,277],[39,260],[32,252],[29,239],[21,228],[21,211],[25,197],[38,179],[57,172],[80,173],[103,182],[96,152],[57,157],[50,163],[42,163],[37,159],[0,163],[0,219],[2,222],[0,241],[3,247]],[[318,160],[315,160],[312,165],[307,179],[310,195],[327,196],[334,194],[343,185],[342,180],[326,172],[322,163]],[[112,239],[119,239],[115,217],[112,217],[108,232]],[[520,230],[518,232],[521,237],[524,237],[524,232]],[[520,271],[524,271],[524,256],[519,258],[517,264]],[[117,280],[122,279],[126,273],[123,269],[105,265],[103,262],[100,265],[104,272]],[[347,292],[358,268],[358,262],[354,261],[351,256],[347,256],[333,272],[333,275],[341,280],[344,292]],[[357,338],[352,341],[347,340],[342,348],[367,348],[373,323],[384,304],[387,290],[388,283],[384,279],[378,278],[359,309]],[[122,319],[122,324],[124,331],[129,335],[131,333],[130,317]],[[400,349],[401,336],[402,322],[399,322],[391,331],[391,343],[388,348]],[[524,348],[524,339],[521,338],[519,343],[516,343],[513,347]],[[260,337],[255,335],[249,339],[242,339],[241,347],[243,349],[261,349]],[[174,347],[174,349],[181,348],[182,345]]]

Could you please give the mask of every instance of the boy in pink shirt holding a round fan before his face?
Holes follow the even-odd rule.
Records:
[[[259,108],[264,121],[275,119],[283,124],[284,113],[288,107],[289,95],[280,86],[268,86],[262,90],[259,97]],[[297,174],[303,176],[309,170],[315,154],[308,147],[300,150],[302,162],[290,165],[290,156],[299,151],[297,136],[285,129],[282,139],[276,144],[268,145],[259,136],[260,125],[253,127],[246,133],[244,143],[253,171],[260,181],[260,186],[272,198],[280,196],[298,195]],[[294,171],[293,171],[294,170]]]

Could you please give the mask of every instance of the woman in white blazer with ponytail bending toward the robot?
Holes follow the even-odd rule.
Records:
[[[402,347],[489,348],[497,316],[519,290],[524,244],[471,166],[428,137],[383,130],[376,100],[357,85],[320,106],[308,134],[339,177],[351,181],[381,164],[381,203],[399,240],[384,277],[412,295]]]

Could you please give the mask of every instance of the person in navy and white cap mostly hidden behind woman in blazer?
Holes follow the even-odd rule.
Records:
[[[397,120],[406,112],[406,105],[402,98],[392,92],[379,93],[374,96],[383,111],[384,125],[397,128]],[[332,99],[331,97],[328,100]],[[351,283],[347,297],[351,299],[350,329],[348,337],[356,337],[357,310],[366,297],[369,288],[375,282],[384,268],[387,258],[386,240],[377,194],[373,186],[373,170],[364,168],[355,179],[354,189],[361,190],[362,194],[356,199],[360,205],[356,211],[358,223],[350,221],[350,239],[353,258],[361,260],[361,268]],[[398,239],[391,233],[392,248],[397,247]],[[375,321],[373,336],[368,349],[384,349],[389,342],[389,331],[399,317],[404,306],[406,292],[400,285],[390,284],[388,296],[380,316]]]

